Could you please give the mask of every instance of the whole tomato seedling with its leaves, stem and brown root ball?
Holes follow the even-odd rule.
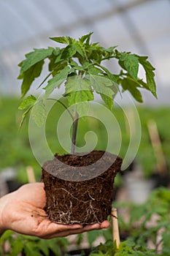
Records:
[[[25,109],[21,124],[30,110],[38,126],[45,123],[45,102],[53,92],[64,85],[63,98],[68,108],[74,109],[71,152],[63,156],[55,154],[53,159],[42,166],[42,181],[45,183],[48,217],[53,222],[86,225],[102,222],[111,214],[112,185],[120,170],[122,159],[108,151],[75,151],[77,127],[81,117],[88,115],[89,103],[93,94],[101,96],[105,105],[112,110],[113,100],[120,89],[130,91],[142,102],[139,89],[147,89],[156,97],[154,67],[147,57],[130,52],[119,52],[115,47],[104,48],[90,42],[90,34],[76,40],[71,37],[53,37],[63,48],[34,49],[26,54],[20,66],[19,79],[22,97],[25,97],[35,78],[42,72],[45,59],[49,60],[49,73],[39,87],[44,85],[42,97],[30,95],[23,99],[20,109]],[[120,72],[113,74],[102,61],[117,60]],[[139,65],[144,68],[146,81],[138,77]],[[63,104],[63,102],[61,102]],[[102,170],[99,172],[98,169]],[[91,178],[92,177],[92,178]]]

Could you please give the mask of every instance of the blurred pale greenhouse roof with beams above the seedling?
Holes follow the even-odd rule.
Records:
[[[49,37],[78,38],[93,31],[93,41],[104,47],[150,56],[158,101],[147,94],[144,100],[169,103],[169,13],[169,0],[0,1],[0,93],[20,94],[18,64],[33,48],[55,46]]]

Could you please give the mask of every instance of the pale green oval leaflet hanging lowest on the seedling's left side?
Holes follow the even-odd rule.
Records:
[[[34,121],[37,127],[42,127],[47,117],[47,111],[45,109],[45,105],[43,104],[42,100],[40,100],[39,102],[36,102],[36,104],[34,105],[34,108],[32,109],[31,114],[34,118]]]

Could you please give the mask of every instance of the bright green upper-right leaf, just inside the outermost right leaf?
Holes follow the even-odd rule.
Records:
[[[139,59],[135,54],[121,53],[120,61],[124,62],[125,69],[134,80],[138,79]]]

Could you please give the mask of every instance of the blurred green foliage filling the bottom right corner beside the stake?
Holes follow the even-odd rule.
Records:
[[[117,209],[126,208],[130,219],[125,222],[119,217],[121,233],[128,232],[128,238],[137,246],[147,250],[147,242],[150,240],[155,247],[153,252],[158,253],[158,245],[162,244],[162,254],[170,255],[168,236],[170,233],[170,191],[167,188],[155,189],[147,202],[141,205],[132,203],[115,203]],[[162,231],[161,231],[162,230]],[[160,233],[161,232],[161,233]],[[158,240],[158,236],[162,236]]]

